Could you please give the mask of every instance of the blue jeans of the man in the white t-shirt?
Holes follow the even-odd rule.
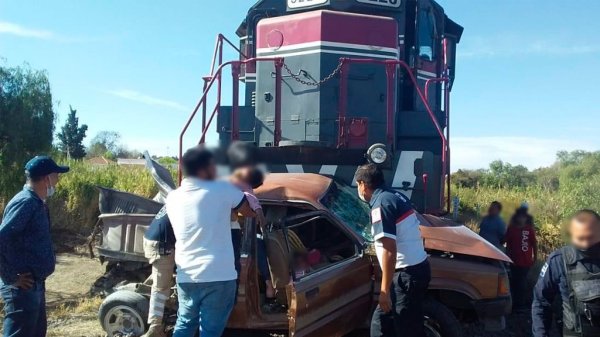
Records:
[[[220,337],[233,309],[236,280],[178,283],[179,310],[173,337]],[[198,330],[199,329],[199,330]]]

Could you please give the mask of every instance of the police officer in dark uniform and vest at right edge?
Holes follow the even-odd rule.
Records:
[[[562,316],[565,337],[600,337],[600,215],[577,212],[569,224],[571,244],[552,253],[533,293],[533,335],[547,337]],[[554,312],[554,300],[561,312]],[[562,325],[562,326],[561,326]]]

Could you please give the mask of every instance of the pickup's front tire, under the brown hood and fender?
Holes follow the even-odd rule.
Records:
[[[462,327],[452,311],[440,302],[428,299],[423,303],[427,337],[462,337]]]

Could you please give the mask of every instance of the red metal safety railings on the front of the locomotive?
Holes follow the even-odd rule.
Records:
[[[229,61],[223,63],[223,46],[227,43],[233,49],[235,49],[239,55],[242,56],[243,60],[241,61]],[[396,88],[396,74],[398,68],[404,70],[405,73],[410,78],[411,82],[414,85],[414,88],[422,101],[427,114],[429,115],[441,141],[442,141],[442,179],[445,179],[447,182],[446,193],[447,193],[447,211],[450,211],[450,179],[446,177],[449,174],[449,163],[450,163],[450,149],[449,149],[449,135],[450,135],[450,124],[449,124],[449,105],[450,105],[450,95],[449,95],[449,74],[448,74],[448,62],[447,62],[447,41],[443,40],[443,55],[444,55],[444,76],[441,78],[432,78],[428,79],[425,82],[425,86],[423,90],[418,85],[417,79],[413,73],[413,69],[410,66],[402,61],[402,60],[381,60],[381,59],[364,59],[364,58],[341,58],[341,71],[340,71],[340,98],[338,102],[338,148],[343,148],[348,144],[348,134],[345,130],[346,126],[346,111],[347,111],[347,95],[348,95],[348,70],[352,64],[381,64],[386,67],[386,78],[387,78],[387,104],[386,104],[386,140],[387,143],[392,146],[392,150],[394,150],[395,145],[395,123],[394,117],[396,113],[396,102],[395,102],[395,93],[394,90]],[[183,137],[185,136],[190,123],[196,116],[198,110],[202,111],[202,137],[200,138],[199,143],[203,144],[206,141],[206,134],[208,132],[208,128],[210,127],[214,117],[219,111],[221,106],[221,94],[222,94],[222,73],[225,67],[231,66],[231,74],[233,80],[233,102],[232,102],[232,113],[231,113],[231,138],[232,140],[239,139],[239,79],[241,73],[241,66],[244,64],[252,64],[256,62],[273,62],[275,66],[275,120],[274,120],[274,146],[278,146],[279,142],[282,139],[281,134],[281,104],[282,104],[282,68],[284,65],[284,58],[282,57],[269,57],[269,58],[248,58],[244,53],[237,48],[231,41],[229,41],[226,37],[219,34],[217,36],[217,41],[215,45],[215,51],[213,54],[213,60],[211,64],[211,72],[209,76],[203,78],[204,86],[203,86],[203,94],[198,103],[196,104],[194,110],[192,111],[190,117],[185,123],[181,134],[179,135],[179,160],[181,164],[181,157],[183,156]],[[215,69],[216,67],[216,69]],[[446,134],[442,130],[442,127],[437,121],[428,100],[429,86],[431,83],[444,83],[444,110],[446,113]],[[217,83],[217,98],[215,107],[210,114],[209,119],[207,120],[207,97],[210,93],[212,87]],[[181,182],[181,165],[179,165],[178,178]],[[444,182],[442,182],[442,185]],[[443,199],[445,193],[441,193],[441,198]],[[441,200],[443,202],[443,200]]]

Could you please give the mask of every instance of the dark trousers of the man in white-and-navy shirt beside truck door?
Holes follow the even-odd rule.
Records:
[[[429,261],[396,271],[390,289],[392,310],[379,306],[371,320],[371,337],[424,337],[423,301],[431,280]]]

